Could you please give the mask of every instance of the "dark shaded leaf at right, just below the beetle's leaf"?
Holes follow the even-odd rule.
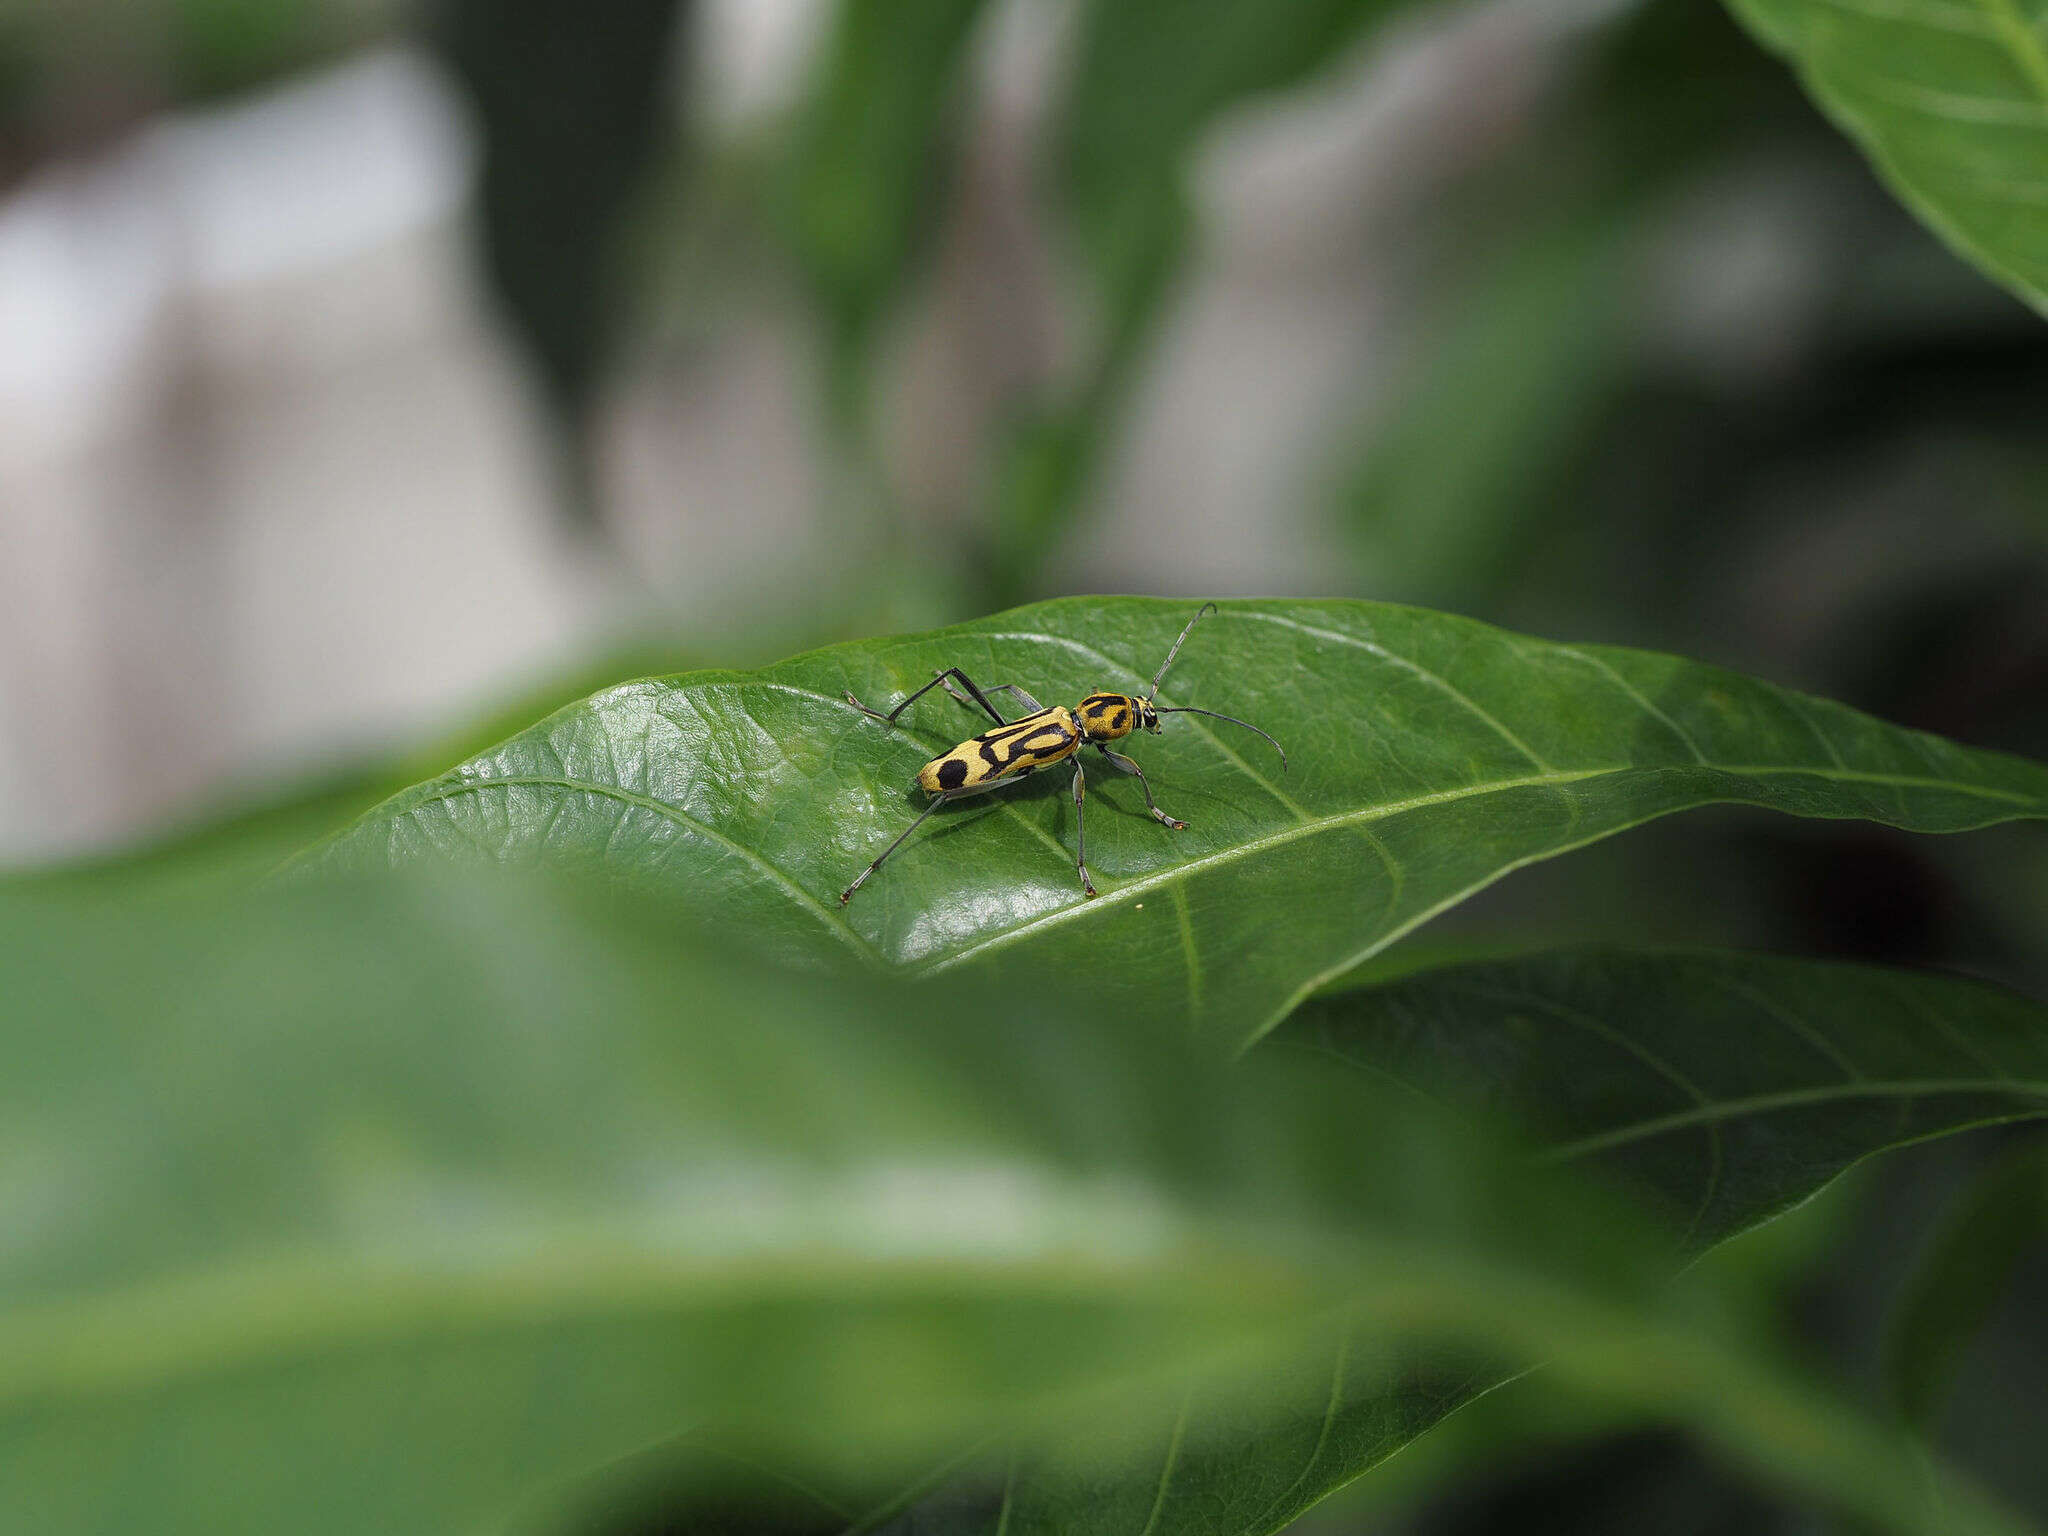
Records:
[[[1272,1036],[1663,1204],[1688,1253],[1862,1157],[2048,1114],[2048,1008],[1978,981],[1716,950],[1561,950],[1321,997]]]

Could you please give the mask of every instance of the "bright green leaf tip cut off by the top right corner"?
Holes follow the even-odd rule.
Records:
[[[2034,0],[1731,0],[1894,193],[2048,311],[2048,29]]]

